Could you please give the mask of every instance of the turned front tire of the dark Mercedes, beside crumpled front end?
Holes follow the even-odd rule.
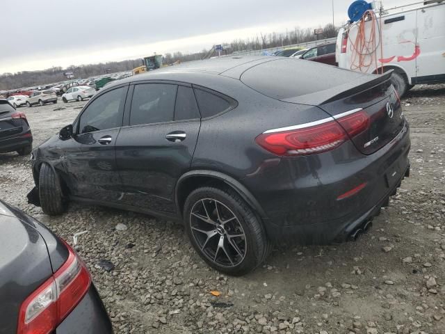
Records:
[[[66,201],[63,197],[62,186],[58,175],[49,166],[43,163],[39,173],[40,206],[45,214],[56,216],[66,210]]]

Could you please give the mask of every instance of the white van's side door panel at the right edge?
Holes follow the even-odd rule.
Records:
[[[416,84],[445,81],[445,4],[417,10]]]

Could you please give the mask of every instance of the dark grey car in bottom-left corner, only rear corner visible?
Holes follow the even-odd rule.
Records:
[[[79,255],[0,200],[0,333],[113,333]]]

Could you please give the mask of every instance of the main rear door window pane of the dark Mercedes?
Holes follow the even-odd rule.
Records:
[[[176,85],[140,84],[134,86],[130,125],[168,122],[175,113]]]

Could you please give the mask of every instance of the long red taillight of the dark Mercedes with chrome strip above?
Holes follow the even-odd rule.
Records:
[[[260,134],[255,141],[262,148],[282,156],[307,155],[326,152],[339,147],[350,137],[357,136],[369,127],[369,116],[362,109],[318,122],[295,127],[273,129]]]

